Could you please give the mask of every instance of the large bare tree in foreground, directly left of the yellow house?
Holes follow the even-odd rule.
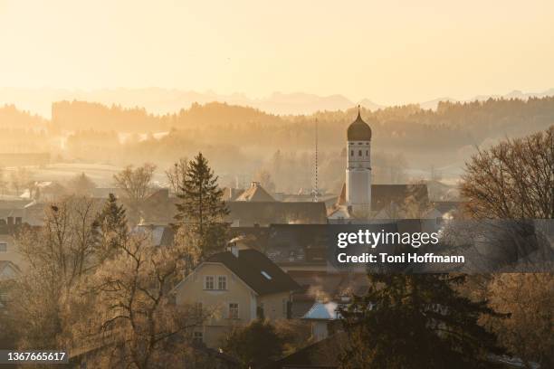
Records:
[[[178,278],[181,251],[155,247],[149,240],[142,234],[121,243],[119,256],[107,260],[92,279],[100,331],[120,343],[111,355],[112,366],[149,368],[167,355],[174,361],[171,354],[184,351],[192,328],[203,320],[196,307],[172,303],[170,288]],[[178,348],[170,338],[180,339]]]

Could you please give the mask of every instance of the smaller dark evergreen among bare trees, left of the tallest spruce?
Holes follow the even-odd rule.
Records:
[[[129,237],[127,216],[123,205],[119,205],[114,194],[110,194],[104,207],[96,217],[95,225],[100,232],[98,242],[99,260],[113,257],[122,242]]]

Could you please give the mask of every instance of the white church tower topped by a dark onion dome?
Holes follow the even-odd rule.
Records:
[[[360,115],[347,133],[346,203],[355,217],[371,211],[371,128]]]

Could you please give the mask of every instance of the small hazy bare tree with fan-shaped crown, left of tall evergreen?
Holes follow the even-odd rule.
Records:
[[[149,163],[138,168],[127,166],[118,174],[113,175],[113,179],[116,187],[127,195],[131,205],[138,206],[151,192],[151,182],[155,170],[156,166]]]

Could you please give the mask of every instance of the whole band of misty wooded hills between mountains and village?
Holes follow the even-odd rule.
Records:
[[[53,156],[60,154],[69,161],[112,165],[149,161],[161,167],[174,157],[192,156],[201,150],[212,157],[222,175],[253,176],[267,169],[278,190],[291,185],[286,178],[303,178],[301,184],[294,184],[298,191],[299,187],[310,187],[317,120],[320,169],[329,174],[323,185],[336,188],[336,168],[343,169],[339,161],[343,160],[340,154],[346,129],[356,114],[353,108],[276,116],[212,102],[193,104],[174,114],[154,115],[142,108],[61,101],[53,104],[52,121],[17,112],[14,107],[0,109],[0,130],[13,129],[5,130],[0,144],[8,151],[50,149]],[[362,109],[361,115],[373,131],[372,152],[386,157],[382,161],[375,157],[376,177],[381,178],[379,182],[395,183],[405,179],[398,175],[397,167],[387,164],[395,164],[390,158],[401,157],[401,166],[425,170],[431,166],[461,166],[474,153],[474,147],[548,128],[554,123],[554,97],[441,102],[436,111],[418,105],[374,112]],[[29,127],[46,127],[46,136],[37,136]],[[299,169],[297,175],[282,176],[279,170],[272,170],[272,156],[278,151],[298,158],[289,164]]]

